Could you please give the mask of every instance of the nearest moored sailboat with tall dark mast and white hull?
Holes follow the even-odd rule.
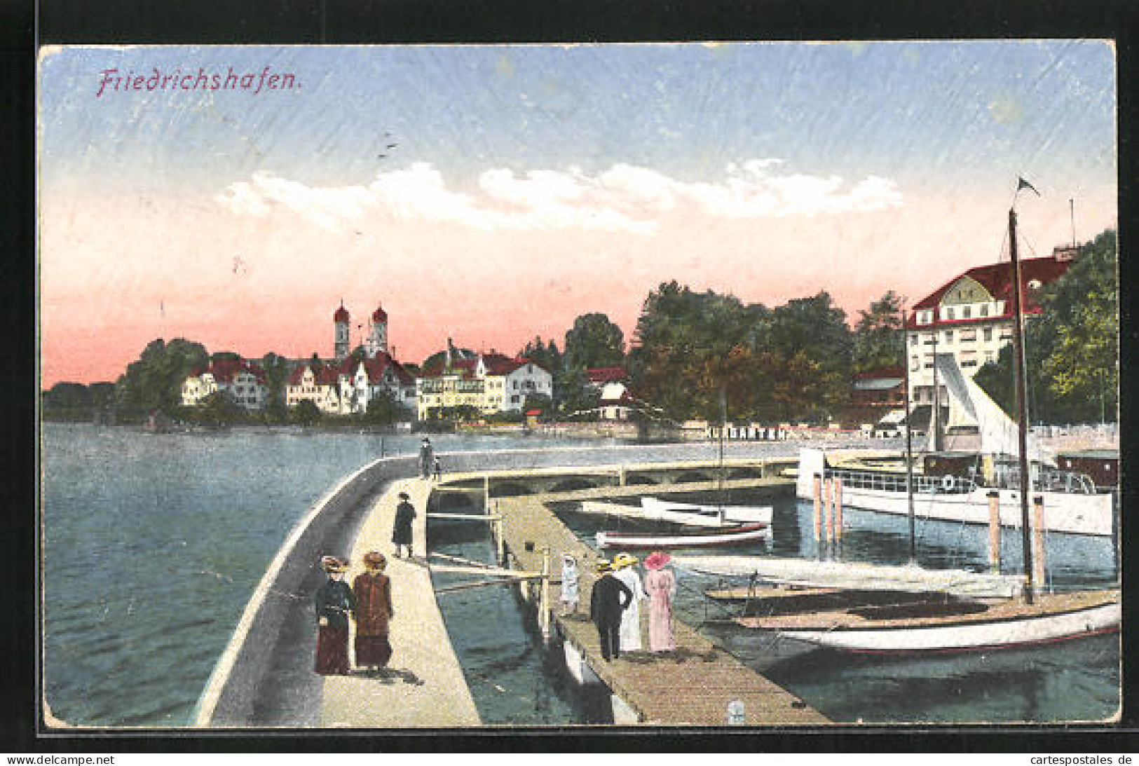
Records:
[[[891,583],[894,591],[883,600],[882,583],[860,579],[849,566],[844,582],[826,587],[820,574],[806,573],[790,580],[797,586],[814,587],[810,593],[788,599],[784,593],[759,593],[757,580],[788,584],[786,574],[770,571],[772,565],[754,562],[749,599],[752,613],[736,623],[748,628],[777,632],[787,639],[821,646],[869,653],[926,653],[1003,649],[1039,643],[1067,641],[1120,629],[1122,609],[1120,591],[1083,591],[1066,594],[1035,592],[1033,583],[1031,519],[1029,513],[1027,417],[1024,390],[1024,355],[1022,352],[1021,271],[1016,252],[1016,209],[1009,209],[1010,260],[1013,269],[1014,368],[1016,373],[1016,414],[1018,431],[1016,476],[1021,506],[1019,528],[1024,562],[1024,586],[1019,598],[962,598],[952,584],[933,586],[920,580],[906,585]],[[907,365],[908,369],[908,365]],[[907,380],[907,411],[909,381]],[[907,431],[906,493],[910,527],[910,567],[916,573],[912,445]],[[845,488],[844,488],[845,492]],[[678,557],[674,563],[715,574],[729,568],[745,574],[746,562],[727,557]],[[764,573],[763,567],[769,571]],[[822,585],[823,587],[819,587]],[[912,588],[912,590],[909,590]],[[869,598],[869,596],[875,598]],[[782,596],[782,598],[779,598]]]

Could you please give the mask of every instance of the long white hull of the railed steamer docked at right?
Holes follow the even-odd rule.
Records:
[[[803,453],[809,451],[804,450]],[[822,455],[820,451],[819,456]],[[801,453],[796,483],[796,495],[811,500],[812,476],[822,472],[821,460]],[[890,484],[884,481],[884,484]],[[893,483],[898,485],[898,483]],[[871,488],[843,483],[842,504],[879,513],[909,514],[909,499],[901,488]],[[965,524],[989,524],[989,493],[999,493],[999,514],[1002,527],[1021,527],[1021,493],[1016,489],[991,489],[977,487],[957,493],[915,493],[913,514],[918,519],[958,521]],[[1113,534],[1114,501],[1111,494],[1075,494],[1062,492],[1033,492],[1032,497],[1043,499],[1043,528],[1046,532],[1062,532],[1077,535],[1109,537]]]

